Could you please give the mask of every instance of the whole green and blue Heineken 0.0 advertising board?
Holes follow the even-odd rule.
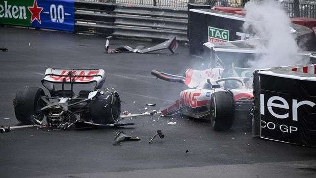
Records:
[[[0,0],[0,24],[73,31],[74,0]]]

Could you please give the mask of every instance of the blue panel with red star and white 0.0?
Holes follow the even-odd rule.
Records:
[[[31,27],[62,31],[74,30],[74,0],[34,0]]]

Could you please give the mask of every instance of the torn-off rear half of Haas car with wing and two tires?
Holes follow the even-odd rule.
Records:
[[[122,126],[120,124],[120,97],[114,89],[101,90],[105,81],[102,69],[53,69],[48,68],[42,88],[25,87],[17,91],[13,100],[15,116],[22,123],[41,124],[46,118],[48,128],[67,129],[92,126]],[[91,90],[74,93],[74,84],[95,83]],[[56,86],[61,85],[61,90]],[[66,85],[70,89],[66,89]]]

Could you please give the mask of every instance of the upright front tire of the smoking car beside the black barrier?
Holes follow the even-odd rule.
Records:
[[[229,91],[212,94],[210,100],[210,122],[215,131],[226,131],[231,128],[234,119],[234,99]]]

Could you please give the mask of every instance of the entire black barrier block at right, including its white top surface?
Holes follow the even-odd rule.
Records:
[[[253,135],[316,146],[316,64],[254,73]]]

